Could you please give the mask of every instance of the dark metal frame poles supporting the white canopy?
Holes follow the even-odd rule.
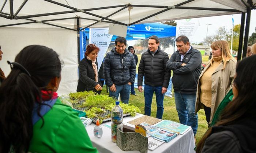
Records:
[[[42,24],[47,24],[47,25],[54,26],[54,27],[64,28],[64,29],[67,29],[67,30],[77,31],[78,56],[80,56],[79,55],[79,52],[80,52],[80,35],[79,35],[79,32],[84,30],[85,28],[90,28],[91,26],[93,26],[94,24],[97,24],[99,22],[114,23],[114,24],[121,24],[121,25],[124,25],[124,26],[130,26],[130,25],[139,23],[140,21],[143,21],[145,19],[148,19],[149,17],[158,15],[160,13],[163,13],[163,12],[166,12],[166,11],[168,11],[170,9],[174,9],[175,8],[175,9],[196,9],[196,10],[225,11],[225,12],[241,13],[241,27],[240,27],[240,37],[239,37],[238,57],[237,57],[237,60],[240,60],[241,59],[241,55],[242,55],[243,58],[246,56],[246,50],[247,50],[247,44],[248,44],[248,35],[249,35],[249,24],[250,24],[250,17],[251,17],[251,10],[255,9],[255,6],[253,6],[253,4],[252,4],[252,0],[248,0],[247,2],[245,0],[240,0],[245,5],[245,7],[247,8],[246,12],[241,12],[241,11],[236,10],[236,9],[184,7],[184,6],[181,6],[181,5],[187,4],[187,3],[195,1],[195,0],[187,0],[187,1],[184,1],[184,2],[182,2],[180,4],[177,4],[177,5],[174,5],[174,6],[125,4],[125,5],[115,5],[115,6],[109,6],[109,7],[98,7],[98,8],[90,8],[90,9],[78,9],[78,8],[71,7],[69,5],[58,3],[58,2],[53,1],[53,0],[44,0],[44,1],[47,1],[49,3],[53,3],[53,4],[60,5],[60,6],[65,7],[65,8],[72,9],[73,11],[63,11],[63,12],[52,12],[52,13],[43,13],[43,14],[35,14],[35,15],[18,16],[20,10],[26,5],[27,1],[28,0],[24,0],[23,3],[18,8],[18,10],[14,13],[14,10],[13,10],[13,0],[9,0],[9,2],[10,2],[10,14],[9,14],[9,13],[2,12],[3,8],[5,7],[5,4],[7,3],[7,0],[5,0],[3,5],[2,5],[2,7],[1,7],[1,9],[0,9],[0,17],[4,17],[4,18],[10,19],[10,20],[25,19],[25,20],[29,20],[29,21],[28,22],[24,22],[24,23],[0,25],[0,27],[9,27],[9,26],[16,26],[16,25],[21,25],[21,24],[31,24],[31,23],[42,23]],[[119,7],[122,7],[122,8],[119,9],[118,11],[116,11],[116,12],[111,13],[110,15],[108,15],[106,17],[99,16],[99,15],[96,15],[94,13],[88,12],[88,11],[99,10],[99,9],[102,10],[102,9],[119,8]],[[133,23],[127,23],[126,24],[126,23],[122,23],[120,21],[109,19],[110,16],[112,16],[112,15],[114,15],[114,14],[116,14],[116,13],[118,13],[118,12],[122,11],[123,9],[128,8],[128,7],[150,7],[150,8],[164,8],[164,9],[162,11],[153,13],[153,14],[151,14],[149,16],[143,17],[142,19],[139,19],[139,20],[137,20],[137,21],[135,21]],[[83,17],[79,17],[79,16],[69,17],[69,18],[52,19],[52,20],[41,20],[41,21],[29,19],[31,17],[59,15],[59,14],[75,13],[75,12],[86,13],[86,14],[89,14],[91,16],[98,17],[100,19],[96,20],[96,19],[90,19],[90,18],[83,18]],[[245,22],[245,13],[246,13],[246,22]],[[48,21],[67,20],[67,19],[76,19],[76,28],[72,29],[72,28],[67,28],[67,27],[63,27],[63,26],[58,26],[58,25],[55,25],[55,24],[47,23]],[[83,20],[93,20],[93,21],[96,21],[96,22],[93,23],[93,24],[90,24],[89,26],[86,26],[84,28],[80,28],[80,19],[83,19]],[[104,20],[107,20],[107,21],[104,21]],[[245,24],[245,36],[244,36],[244,24]],[[242,43],[243,38],[244,38],[244,43]],[[242,52],[242,48],[243,48],[243,52]],[[78,61],[80,61],[80,57],[78,57]]]

